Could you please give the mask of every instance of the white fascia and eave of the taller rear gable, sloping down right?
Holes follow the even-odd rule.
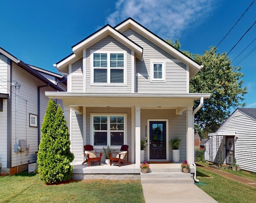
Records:
[[[163,42],[160,38],[156,37],[154,34],[137,24],[131,19],[128,19],[125,21],[123,24],[120,24],[117,26],[115,29],[118,30],[119,32],[123,32],[127,28],[132,28],[142,36],[146,37],[149,39],[151,42],[154,44],[158,45],[160,48],[171,54],[172,56],[180,59],[182,62],[185,64],[188,64],[190,67],[190,79],[193,78],[194,75],[196,75],[202,68],[203,66],[197,64],[193,60],[191,60],[189,57],[185,56],[184,54],[180,53],[178,50],[172,48],[172,46],[169,46],[167,43]]]

